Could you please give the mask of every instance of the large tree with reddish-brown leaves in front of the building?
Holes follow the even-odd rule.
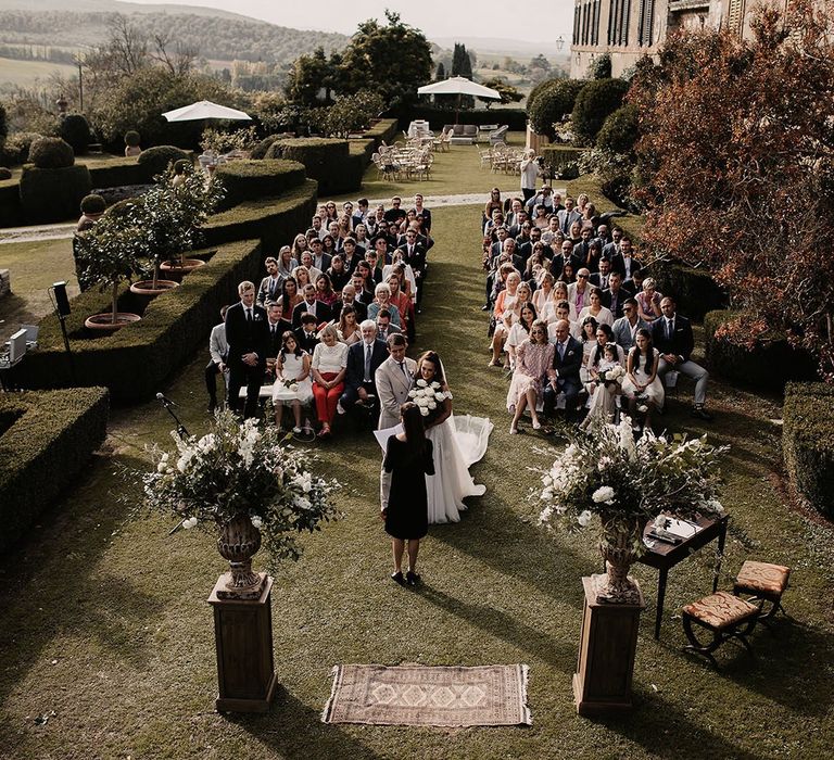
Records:
[[[749,342],[787,333],[834,381],[834,26],[831,0],[760,9],[755,39],[670,38],[639,66],[646,248],[706,267]]]

